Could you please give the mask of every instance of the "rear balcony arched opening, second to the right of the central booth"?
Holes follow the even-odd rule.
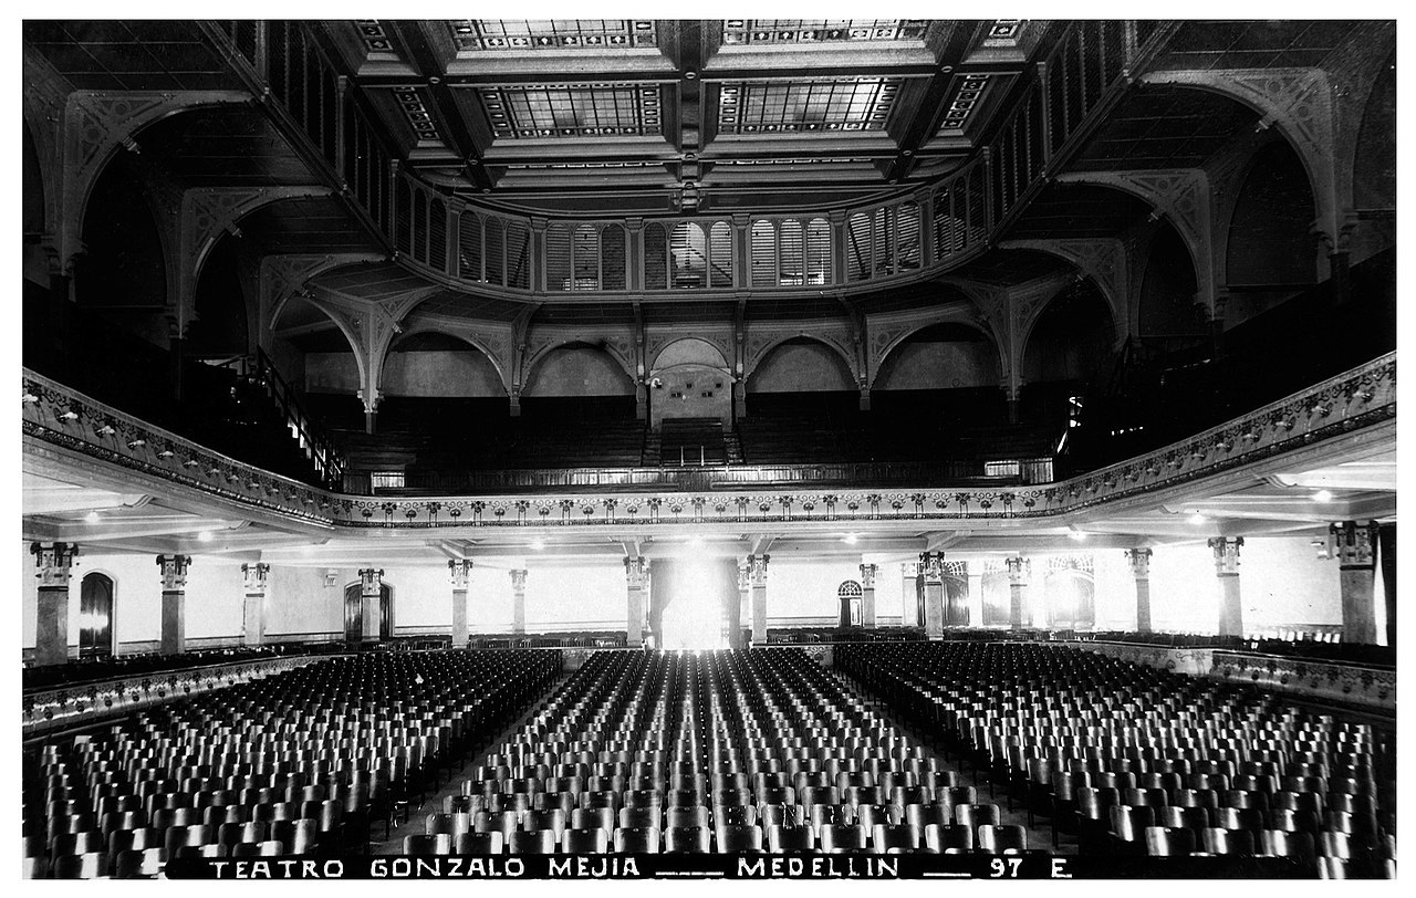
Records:
[[[877,418],[915,416],[939,426],[1007,421],[998,350],[977,327],[943,322],[901,340],[871,387]]]

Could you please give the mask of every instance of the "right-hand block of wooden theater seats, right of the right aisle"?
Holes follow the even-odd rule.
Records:
[[[834,663],[1046,816],[1054,844],[1395,875],[1395,729],[1058,646],[840,646]]]

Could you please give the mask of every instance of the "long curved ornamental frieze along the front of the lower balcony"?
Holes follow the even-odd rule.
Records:
[[[142,472],[200,493],[316,525],[353,530],[634,527],[919,520],[1046,518],[1180,486],[1314,446],[1396,416],[1396,354],[1330,378],[1218,428],[1119,465],[1038,486],[930,489],[753,487],[725,480],[691,490],[564,490],[537,496],[367,497],[333,493],[215,453],[30,371],[23,374],[27,441]],[[773,466],[777,474],[792,466]],[[816,466],[801,466],[810,470]],[[711,480],[712,469],[705,477]],[[624,469],[639,474],[657,469]],[[698,489],[704,487],[704,489]],[[712,489],[712,493],[708,490]]]

